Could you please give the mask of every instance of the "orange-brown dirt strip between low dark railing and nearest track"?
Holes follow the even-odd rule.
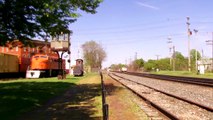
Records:
[[[146,120],[145,113],[135,101],[139,99],[120,83],[105,77],[107,103],[109,104],[109,120]],[[131,99],[130,99],[131,98]]]

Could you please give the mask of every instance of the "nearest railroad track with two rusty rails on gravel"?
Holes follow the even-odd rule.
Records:
[[[206,105],[203,105],[203,104],[200,104],[200,103],[197,103],[197,102],[194,102],[194,101],[191,101],[191,100],[188,100],[186,98],[183,98],[183,97],[180,97],[180,96],[177,96],[177,95],[173,95],[173,94],[170,94],[170,93],[167,93],[165,91],[161,91],[161,90],[158,90],[158,89],[155,89],[153,87],[150,87],[150,86],[147,86],[147,85],[144,85],[140,82],[136,82],[136,81],[133,81],[131,79],[128,79],[128,78],[125,78],[125,77],[122,77],[122,76],[119,76],[117,74],[110,74],[110,76],[113,78],[113,79],[117,79],[118,82],[122,83],[124,86],[126,86],[128,89],[130,89],[131,91],[133,91],[135,94],[137,94],[139,97],[141,97],[142,99],[144,99],[145,101],[148,101],[149,104],[151,104],[152,106],[154,106],[155,108],[157,108],[161,113],[163,113],[165,116],[167,116],[169,119],[182,119],[180,118],[180,116],[174,114],[173,112],[171,112],[170,110],[168,109],[165,109],[165,107],[162,107],[161,105],[157,104],[156,102],[153,102],[152,100],[149,100],[149,98],[147,97],[144,97],[144,93],[145,94],[149,94],[149,92],[141,92],[141,91],[137,91],[137,90],[134,90],[134,88],[137,86],[143,86],[143,87],[146,87],[148,89],[151,89],[151,91],[156,91],[155,94],[164,94],[166,96],[169,96],[171,97],[172,99],[175,99],[175,101],[183,101],[187,104],[190,104],[191,106],[196,106],[197,108],[199,109],[205,109],[204,111],[207,111],[210,113],[210,116],[212,115],[213,117],[213,108],[212,107],[209,107],[209,106],[206,106]],[[127,83],[124,82],[124,81],[128,81]],[[132,84],[137,84],[137,85],[134,85],[132,86]],[[142,93],[142,94],[141,94]],[[146,95],[145,95],[146,96]]]

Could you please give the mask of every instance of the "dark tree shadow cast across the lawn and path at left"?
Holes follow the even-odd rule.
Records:
[[[69,90],[59,95],[66,88]],[[0,116],[4,120],[100,120],[93,116],[96,111],[90,104],[100,95],[100,84],[4,83],[0,84]]]

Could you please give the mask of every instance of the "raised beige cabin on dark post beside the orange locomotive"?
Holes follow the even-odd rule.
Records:
[[[57,34],[51,37],[51,50],[58,54],[58,67],[60,69],[58,73],[58,79],[65,79],[65,70],[62,67],[62,58],[65,52],[70,54],[70,32]]]

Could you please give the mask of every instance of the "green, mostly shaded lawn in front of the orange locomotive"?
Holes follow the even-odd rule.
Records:
[[[84,77],[68,76],[65,80],[57,78],[18,79],[0,81],[0,116],[2,120],[15,119],[24,113],[39,108],[50,99],[62,95],[66,90],[78,86],[79,81],[98,76],[88,74]],[[97,77],[98,79],[99,77]],[[101,96],[94,96],[97,103]],[[77,100],[74,100],[77,101]],[[94,105],[95,105],[94,104]],[[100,104],[97,104],[97,109]],[[100,115],[100,112],[97,113]]]

